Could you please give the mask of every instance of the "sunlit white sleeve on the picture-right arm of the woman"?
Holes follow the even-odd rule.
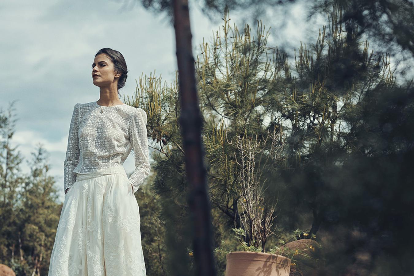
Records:
[[[129,181],[132,184],[133,193],[135,193],[151,169],[148,152],[147,113],[141,108],[137,108],[132,115],[129,135],[135,159],[135,170],[129,177]]]

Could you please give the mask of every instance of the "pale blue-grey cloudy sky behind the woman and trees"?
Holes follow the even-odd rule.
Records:
[[[175,76],[176,55],[174,29],[163,14],[144,10],[140,5],[115,0],[2,0],[0,2],[0,108],[12,101],[17,116],[12,146],[29,159],[41,143],[50,154],[51,175],[63,201],[63,161],[67,146],[70,118],[75,103],[99,99],[99,88],[91,78],[95,53],[105,47],[119,50],[128,65],[128,80],[121,95],[132,95],[135,79],[151,72],[170,82]],[[197,55],[203,37],[222,25],[217,15],[210,22],[200,8],[190,1],[193,49]],[[239,29],[246,14],[230,11]],[[247,11],[248,12],[248,11]],[[301,24],[302,5],[292,6],[284,24],[271,25],[269,44],[296,45],[308,31]],[[247,14],[248,15],[248,14]],[[232,24],[231,24],[232,25]],[[309,25],[308,25],[309,26]],[[293,48],[291,49],[293,50]],[[132,154],[124,163],[127,173],[134,169]],[[24,161],[23,172],[29,172]]]

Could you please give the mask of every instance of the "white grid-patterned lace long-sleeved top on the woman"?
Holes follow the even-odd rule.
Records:
[[[151,168],[147,113],[125,103],[109,107],[95,101],[75,104],[64,162],[64,190],[75,183],[76,173],[99,174],[109,167],[123,168],[131,150],[136,168],[129,181],[135,193]]]

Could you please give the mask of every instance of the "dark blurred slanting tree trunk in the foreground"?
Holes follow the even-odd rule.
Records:
[[[179,122],[183,136],[188,180],[187,201],[193,222],[195,270],[197,276],[216,276],[204,149],[201,139],[202,116],[195,83],[188,0],[173,0],[173,6],[181,101]]]

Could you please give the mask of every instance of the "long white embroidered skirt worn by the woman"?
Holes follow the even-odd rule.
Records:
[[[137,199],[125,170],[109,171],[68,190],[49,276],[146,276]]]

